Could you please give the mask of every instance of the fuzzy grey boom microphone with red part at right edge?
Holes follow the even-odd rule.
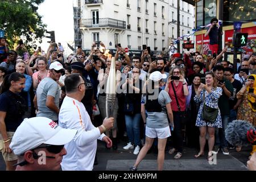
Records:
[[[243,120],[234,120],[228,123],[225,137],[233,146],[248,146],[249,144],[255,144],[256,131],[251,123]]]

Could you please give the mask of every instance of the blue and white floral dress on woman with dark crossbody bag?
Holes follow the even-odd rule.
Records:
[[[205,98],[203,102],[203,95],[205,92]],[[195,102],[201,102],[199,112],[197,114],[196,118],[196,126],[201,127],[201,126],[209,126],[209,127],[218,127],[222,128],[222,122],[221,122],[221,114],[220,114],[220,109],[218,109],[218,99],[222,95],[222,88],[217,87],[212,88],[212,92],[208,94],[207,90],[202,90],[200,92],[200,97],[197,97],[197,95],[194,97]],[[218,109],[218,115],[216,118],[216,121],[214,123],[212,122],[207,122],[204,121],[203,119],[203,106],[205,105],[212,107],[214,109]]]

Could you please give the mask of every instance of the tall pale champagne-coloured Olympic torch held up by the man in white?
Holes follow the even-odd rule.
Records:
[[[109,77],[106,84],[106,117],[107,118],[113,117],[115,96],[116,96],[115,88],[116,88],[115,58],[112,57]]]

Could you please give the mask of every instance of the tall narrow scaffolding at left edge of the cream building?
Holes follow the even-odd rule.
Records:
[[[82,46],[82,35],[80,30],[81,22],[81,0],[73,0],[73,17],[74,17],[74,40],[75,49],[78,46]]]

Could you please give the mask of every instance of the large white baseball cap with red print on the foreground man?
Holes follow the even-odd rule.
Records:
[[[77,130],[63,129],[46,117],[24,119],[16,129],[10,148],[15,155],[22,155],[40,144],[63,145],[69,143]]]

